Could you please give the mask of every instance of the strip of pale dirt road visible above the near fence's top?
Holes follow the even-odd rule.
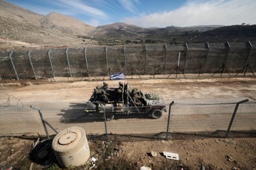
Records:
[[[107,82],[110,87],[118,86],[118,80]],[[241,99],[256,101],[255,78],[149,79],[128,82],[132,88],[160,94],[165,103],[228,103]],[[97,84],[101,85],[102,81],[32,82],[31,86],[19,87],[2,84],[0,103],[6,102],[8,94],[21,99],[28,106],[69,107],[71,103],[88,101]]]

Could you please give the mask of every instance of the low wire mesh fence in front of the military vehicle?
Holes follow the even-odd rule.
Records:
[[[239,101],[220,104],[167,105],[167,112],[152,119],[149,107],[102,107],[85,113],[82,103],[65,109],[0,107],[0,136],[56,134],[68,127],[82,127],[93,136],[136,136],[173,138],[177,134],[194,136],[236,137],[235,132],[255,134],[256,103]],[[148,112],[149,111],[149,112]],[[105,119],[106,118],[106,119]],[[50,128],[52,127],[52,128]],[[46,133],[47,132],[47,133]]]

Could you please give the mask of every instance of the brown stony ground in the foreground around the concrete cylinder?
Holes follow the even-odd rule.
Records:
[[[29,152],[36,140],[15,137],[0,138],[0,169],[41,169]],[[255,138],[196,138],[186,140],[153,140],[118,142],[89,140],[91,157],[97,157],[94,169],[256,169]],[[151,156],[151,152],[157,156]],[[163,152],[179,154],[179,161],[167,159]],[[52,169],[59,169],[53,165]],[[88,169],[84,165],[69,169]]]

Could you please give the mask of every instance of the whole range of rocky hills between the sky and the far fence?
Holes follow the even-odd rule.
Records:
[[[64,22],[65,21],[65,22]],[[70,16],[46,16],[0,0],[0,49],[85,47],[126,43],[205,43],[256,40],[256,26],[190,26],[142,28],[122,22],[90,26]]]

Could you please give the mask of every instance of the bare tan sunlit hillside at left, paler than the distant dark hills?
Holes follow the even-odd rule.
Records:
[[[65,21],[65,22],[64,22]],[[77,36],[87,36],[94,29],[64,14],[46,16],[0,0],[0,49],[24,47],[85,46],[95,43]]]

